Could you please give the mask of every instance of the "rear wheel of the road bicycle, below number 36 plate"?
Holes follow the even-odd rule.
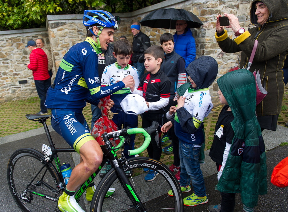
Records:
[[[39,212],[58,209],[57,184],[60,178],[52,163],[47,163],[43,167],[40,161],[43,157],[44,155],[35,149],[21,148],[12,154],[8,162],[9,189],[22,211]]]

